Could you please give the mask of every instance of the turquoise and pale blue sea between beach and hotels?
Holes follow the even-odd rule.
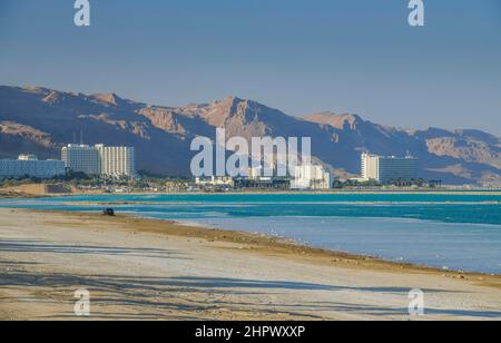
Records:
[[[288,237],[434,267],[501,274],[501,196],[474,194],[99,195],[0,207],[100,210]],[[127,203],[127,204],[124,204]]]

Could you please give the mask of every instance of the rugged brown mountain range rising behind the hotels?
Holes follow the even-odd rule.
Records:
[[[159,107],[117,95],[84,95],[38,87],[0,87],[0,158],[33,153],[60,158],[60,148],[86,144],[134,146],[138,169],[190,176],[196,136],[312,137],[312,154],[337,175],[360,173],[360,154],[420,158],[425,179],[448,184],[501,184],[501,140],[479,130],[403,130],[356,115],[288,116],[252,100],[228,97],[213,104]]]

